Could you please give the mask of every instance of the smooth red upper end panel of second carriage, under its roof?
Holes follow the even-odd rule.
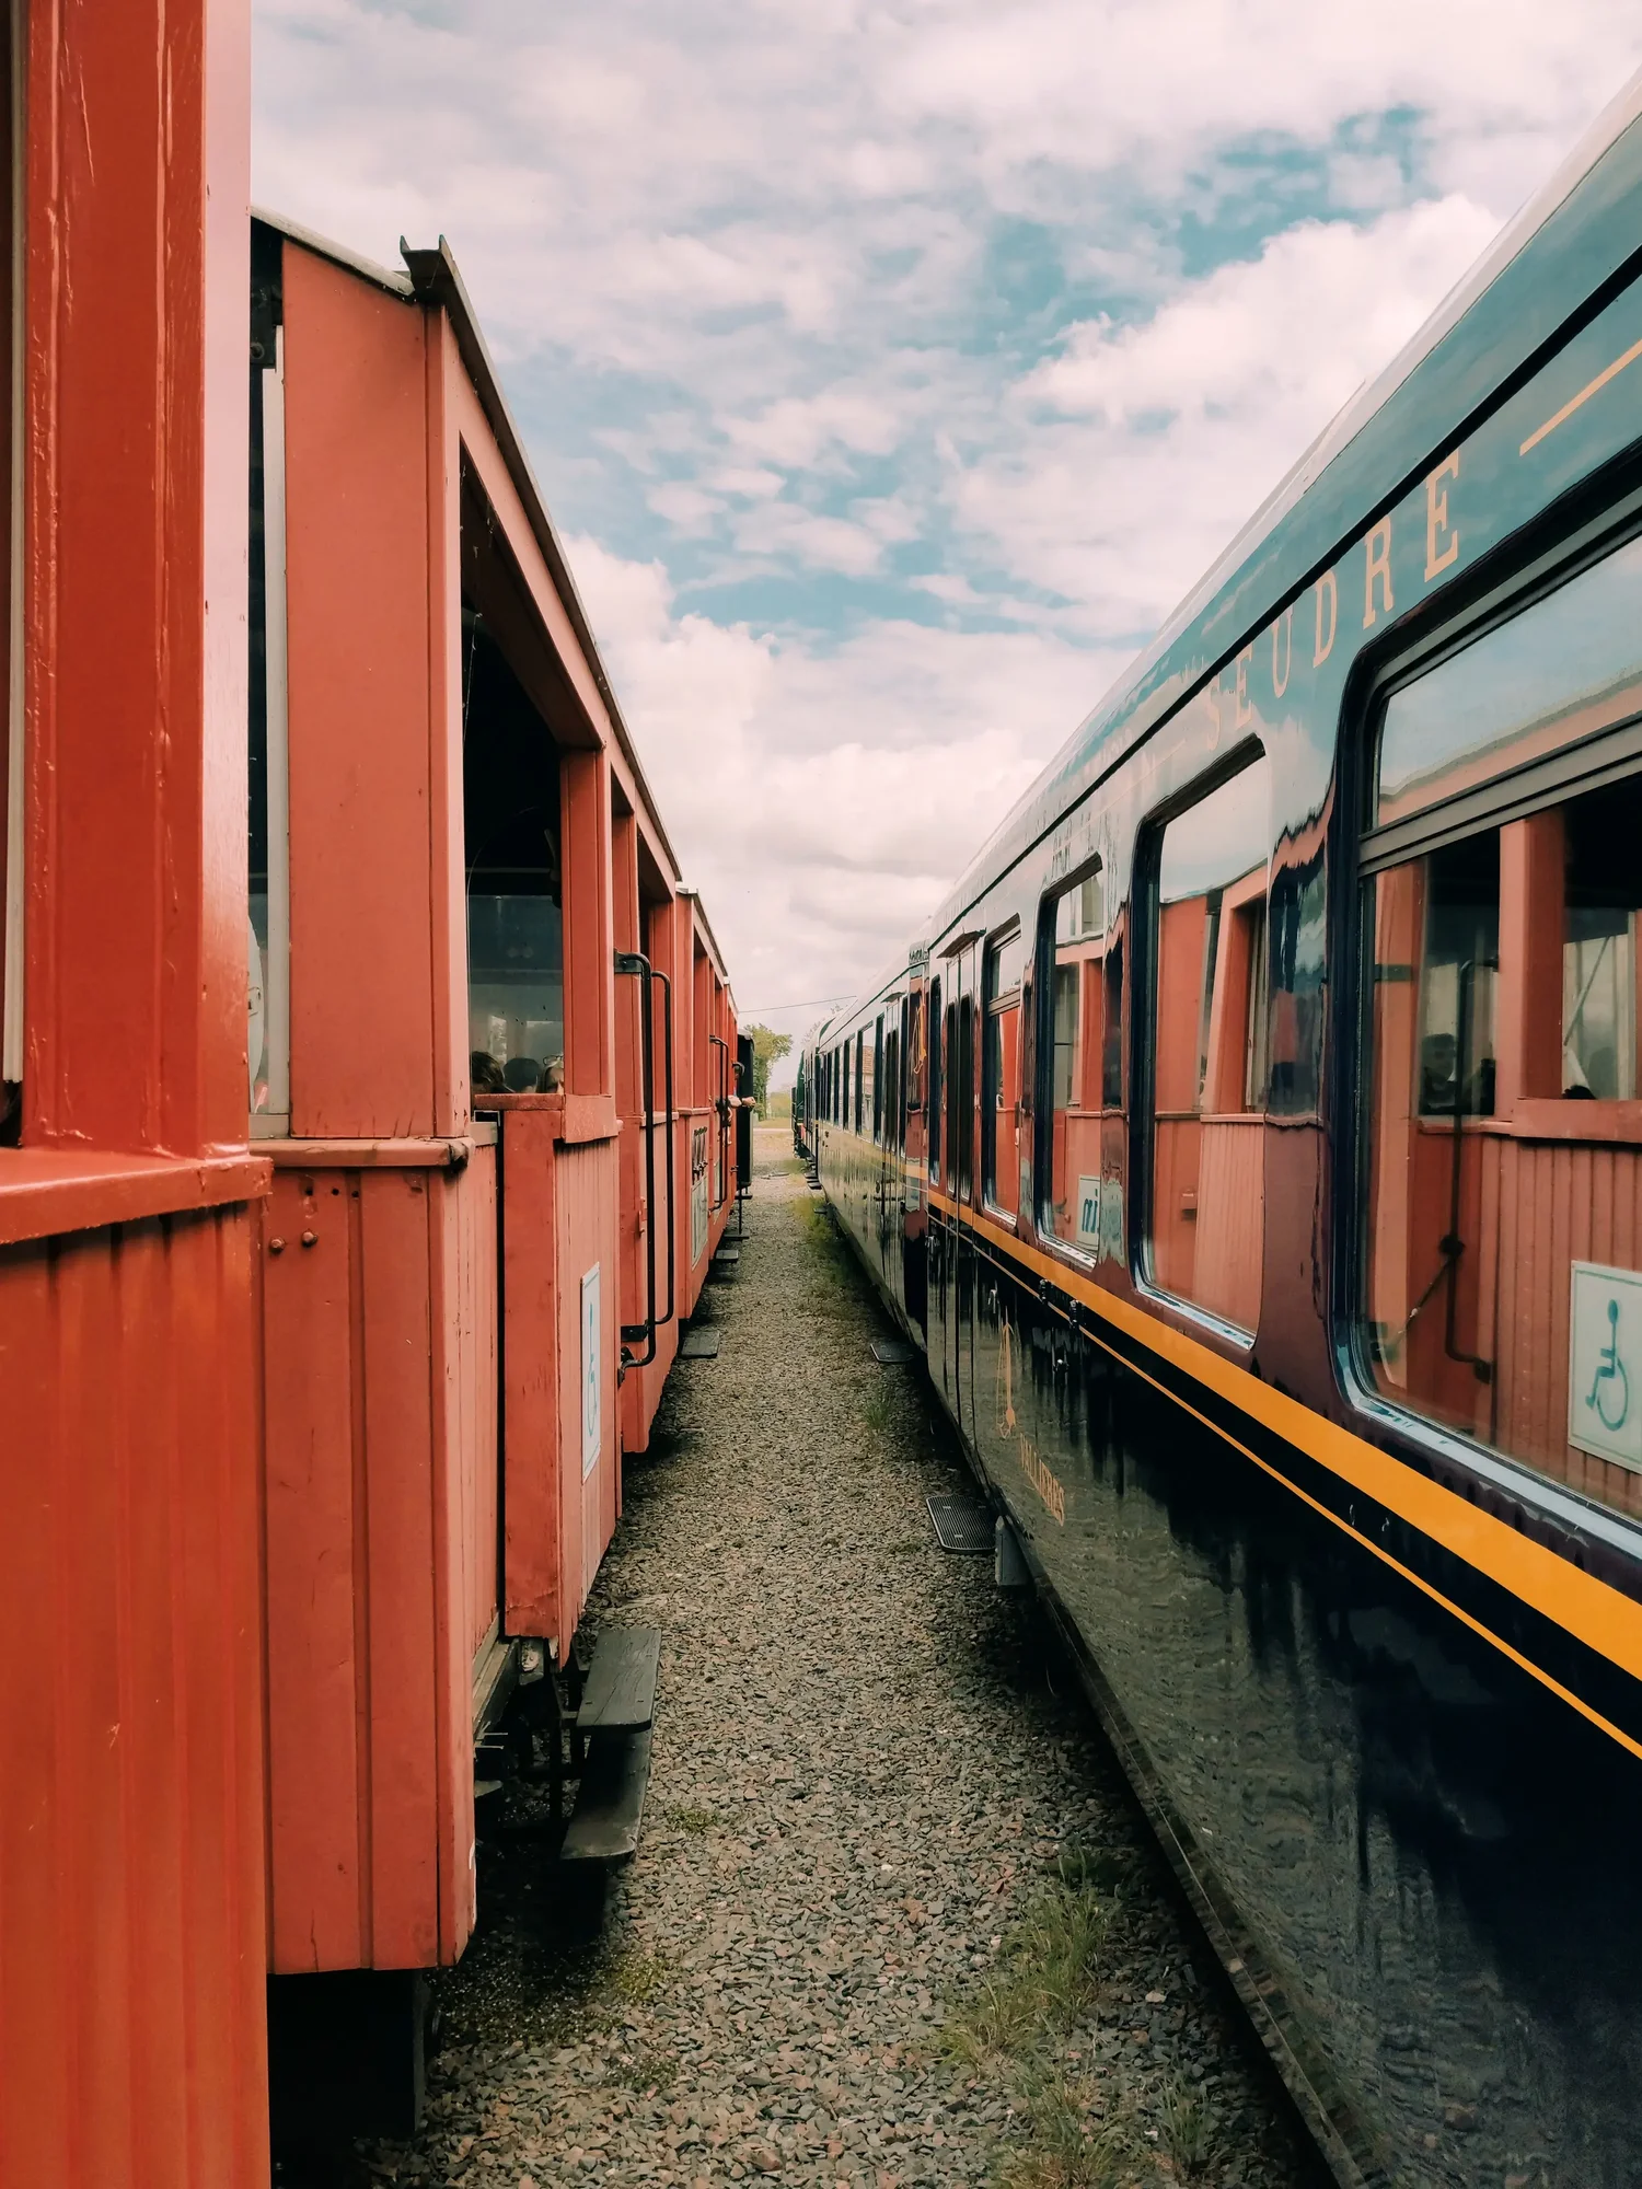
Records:
[[[418,309],[287,245],[298,1136],[436,1130],[425,350]]]

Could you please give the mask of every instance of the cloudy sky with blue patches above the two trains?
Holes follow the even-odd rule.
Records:
[[[449,236],[799,1029],[1638,63],[1618,0],[256,0],[254,186]]]

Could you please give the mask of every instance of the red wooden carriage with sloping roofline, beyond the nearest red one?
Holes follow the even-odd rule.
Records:
[[[466,1944],[475,1742],[567,1659],[733,1195],[722,961],[455,265],[407,269],[254,228],[269,1966],[304,1979],[274,1992],[302,2112],[335,2097],[309,1979]],[[416,2007],[370,1996],[409,2038],[390,2126]]]

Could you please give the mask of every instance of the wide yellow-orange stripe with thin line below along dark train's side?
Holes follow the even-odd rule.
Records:
[[[1406,1519],[1421,1534],[1452,1550],[1456,1559],[1462,1559],[1469,1567],[1487,1574],[1489,1580],[1500,1583],[1511,1596],[1522,1598],[1535,1611],[1543,1613],[1565,1633],[1574,1635],[1587,1648],[1594,1648],[1609,1664],[1629,1672],[1633,1679],[1642,1679],[1642,1605],[1633,1598],[1622,1596],[1611,1589],[1605,1580],[1594,1574],[1581,1572],[1570,1565],[1568,1559],[1559,1559],[1554,1550],[1546,1550],[1543,1543],[1533,1543],[1528,1537],[1517,1534],[1502,1519],[1491,1513],[1480,1513],[1469,1499],[1443,1489],[1441,1482],[1432,1482],[1416,1469],[1408,1467],[1403,1460],[1392,1458],[1377,1445],[1366,1443],[1351,1429],[1342,1429],[1338,1423],[1327,1421],[1322,1414],[1311,1412],[1298,1399],[1285,1397],[1281,1390],[1272,1390],[1270,1383],[1261,1383],[1257,1375],[1248,1368],[1239,1368],[1235,1362],[1222,1359],[1209,1346],[1189,1337],[1184,1331],[1171,1329],[1156,1316],[1147,1313],[1143,1307],[1132,1307],[1128,1300],[1119,1300],[1114,1294],[1103,1292],[1090,1278],[1071,1270],[1062,1261],[1053,1261],[1038,1248],[1027,1246],[1014,1232],[994,1224],[990,1217],[976,1215],[972,1208],[959,1208],[959,1204],[939,1193],[935,1186],[928,1189],[930,1206],[944,1208],[948,1215],[961,1217],[970,1228],[985,1232],[998,1248],[1020,1261],[1027,1270],[1038,1276],[1051,1278],[1062,1292],[1068,1292],[1084,1307],[1092,1307],[1097,1316],[1110,1322],[1114,1329],[1138,1340],[1147,1351],[1171,1362],[1176,1368],[1184,1370],[1193,1381],[1206,1383],[1222,1399],[1228,1399],[1239,1412],[1252,1416],[1263,1427],[1272,1429],[1285,1443],[1305,1451],[1309,1458],[1318,1460],[1329,1473],[1360,1489],[1366,1497],[1386,1506],[1399,1519]],[[1090,1333],[1095,1335],[1095,1333]],[[1097,1344],[1103,1340],[1097,1337]],[[1112,1346],[1103,1344],[1103,1351],[1114,1353],[1123,1359],[1123,1366],[1134,1368],[1128,1355],[1117,1353]],[[1279,1469],[1270,1467],[1257,1451],[1241,1445],[1228,1429],[1200,1414],[1187,1399],[1158,1383],[1143,1368],[1136,1375],[1154,1383],[1165,1397],[1173,1399],[1176,1405],[1184,1408],[1195,1421],[1202,1421],[1206,1429],[1213,1429],[1224,1443],[1244,1458],[1252,1460],[1259,1469],[1281,1482],[1287,1491],[1309,1504],[1325,1519],[1333,1521],[1353,1543],[1362,1543],[1371,1550],[1384,1565],[1390,1565],[1406,1580],[1412,1580],[1421,1594],[1430,1596],[1432,1602],[1443,1605],[1452,1611],[1456,1620],[1469,1626],[1473,1633],[1482,1635],[1498,1651],[1530,1672],[1541,1686],[1550,1688],[1552,1694],[1572,1703],[1581,1716],[1589,1718],[1605,1734],[1611,1734],[1622,1747],[1633,1756],[1642,1756],[1642,1742],[1633,1740],[1618,1725],[1611,1725],[1600,1712],[1592,1710],[1589,1703],[1572,1694],[1561,1681],[1552,1679],[1550,1672],[1533,1664],[1508,1642],[1495,1635],[1480,1620],[1471,1618],[1469,1611],[1452,1602],[1441,1589],[1434,1589],[1419,1574],[1410,1572],[1397,1559],[1390,1556],[1381,1545],[1371,1543],[1366,1534],[1351,1528],[1338,1513],[1331,1513],[1316,1497],[1309,1497],[1296,1482],[1290,1482]]]

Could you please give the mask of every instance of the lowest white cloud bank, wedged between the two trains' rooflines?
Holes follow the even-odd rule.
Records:
[[[917,624],[782,644],[681,613],[659,563],[567,549],[747,1003],[876,976],[1123,659]]]

